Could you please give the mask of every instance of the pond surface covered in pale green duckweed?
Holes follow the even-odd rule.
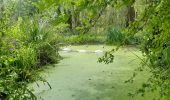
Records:
[[[102,50],[108,51],[112,46],[70,46],[72,50]],[[149,76],[148,72],[141,72],[133,84],[125,83],[134,69],[140,66],[141,53],[131,47],[121,48],[115,53],[115,60],[111,64],[98,63],[102,53],[63,52],[63,60],[55,67],[47,67],[42,73],[50,83],[48,85],[34,83],[35,94],[39,100],[151,100],[155,95],[131,98],[129,92],[134,92]]]

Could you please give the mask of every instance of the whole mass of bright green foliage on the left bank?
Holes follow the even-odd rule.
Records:
[[[39,14],[13,15],[20,12],[18,2],[0,4],[0,99],[35,100],[28,83],[45,82],[38,68],[57,63],[60,56],[55,33],[47,23],[40,23]]]

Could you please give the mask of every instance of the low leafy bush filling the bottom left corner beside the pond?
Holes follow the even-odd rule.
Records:
[[[24,48],[25,49],[25,48]],[[28,51],[28,52],[27,52]],[[2,53],[2,52],[1,52]],[[27,54],[31,53],[31,57]],[[26,54],[26,55],[24,55]],[[24,56],[23,56],[24,55]],[[1,99],[32,99],[36,97],[31,90],[27,88],[29,82],[36,80],[36,71],[34,71],[34,53],[32,50],[15,50],[9,55],[0,56],[0,98]],[[34,57],[35,58],[35,57]],[[30,62],[31,61],[31,62]],[[31,67],[31,68],[30,68]]]

